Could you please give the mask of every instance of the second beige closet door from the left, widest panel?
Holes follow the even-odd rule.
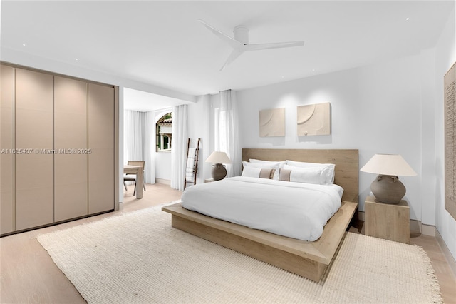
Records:
[[[16,69],[16,230],[53,223],[53,76]]]

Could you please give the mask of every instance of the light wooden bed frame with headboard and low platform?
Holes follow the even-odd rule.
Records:
[[[308,242],[240,226],[189,211],[180,203],[162,210],[172,214],[172,227],[318,282],[358,208],[358,150],[242,149],[242,161],[249,158],[336,164],[334,183],[344,189],[342,206],[318,240]]]

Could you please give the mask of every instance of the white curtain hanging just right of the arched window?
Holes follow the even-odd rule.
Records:
[[[171,188],[183,191],[187,164],[187,105],[172,108]]]

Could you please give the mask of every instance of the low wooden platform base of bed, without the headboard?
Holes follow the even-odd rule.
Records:
[[[314,242],[204,216],[183,208],[180,203],[162,207],[162,211],[171,213],[172,227],[318,282],[336,255],[357,208],[358,203],[343,201],[326,224],[323,235]]]

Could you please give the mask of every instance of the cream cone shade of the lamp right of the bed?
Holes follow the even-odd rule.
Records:
[[[399,154],[375,154],[361,171],[387,176],[415,176],[408,163]]]

